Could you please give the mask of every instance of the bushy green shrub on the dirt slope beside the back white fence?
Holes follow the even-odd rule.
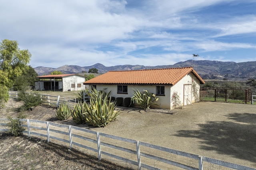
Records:
[[[31,107],[38,106],[42,103],[40,94],[28,94],[25,92],[21,92],[18,94],[18,100],[24,101],[24,104],[20,107],[20,111],[26,111]]]

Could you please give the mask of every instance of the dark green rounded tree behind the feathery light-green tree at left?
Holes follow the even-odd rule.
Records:
[[[32,66],[28,66],[28,70],[23,72],[21,76],[15,78],[14,82],[14,90],[16,91],[26,91],[27,86],[34,86],[35,82],[38,81],[37,72],[32,68]]]

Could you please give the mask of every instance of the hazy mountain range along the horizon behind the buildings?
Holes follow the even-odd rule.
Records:
[[[63,74],[82,74],[84,75],[90,68],[96,68],[99,73],[116,70],[142,70],[142,69],[157,69],[157,68],[174,68],[174,67],[191,67],[194,66],[194,70],[203,79],[215,79],[215,80],[248,80],[249,78],[256,78],[256,61],[248,61],[243,63],[235,62],[223,62],[223,61],[183,61],[173,65],[162,66],[143,66],[143,65],[117,65],[117,66],[104,66],[97,63],[92,66],[76,66],[76,65],[64,65],[58,68],[50,68],[38,66],[34,70],[38,75],[47,75],[52,71],[61,71]]]

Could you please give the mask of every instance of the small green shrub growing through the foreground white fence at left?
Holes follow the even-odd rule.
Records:
[[[22,131],[25,130],[24,127],[22,127],[22,122],[20,121],[20,119],[13,119],[12,117],[7,117],[8,120],[10,121],[9,123],[7,123],[7,126],[10,128],[8,130],[8,133],[11,133],[14,136],[20,136],[22,135]]]

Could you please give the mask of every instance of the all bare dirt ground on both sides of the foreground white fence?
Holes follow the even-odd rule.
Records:
[[[0,109],[0,118],[16,117],[21,103],[10,99]],[[75,125],[256,168],[256,105],[200,102],[172,111],[118,108],[116,121],[104,128],[58,121],[56,109],[37,106],[27,119]],[[0,137],[0,169],[124,169],[94,156],[68,151],[40,139]],[[106,162],[106,163],[105,163]],[[113,168],[114,167],[114,168]]]

